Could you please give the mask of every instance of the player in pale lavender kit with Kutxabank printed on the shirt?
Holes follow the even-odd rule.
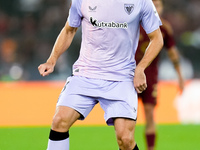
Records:
[[[151,42],[136,67],[140,24]],[[47,150],[69,150],[70,127],[97,103],[106,123],[114,125],[119,149],[139,149],[134,139],[137,93],[146,89],[144,70],[163,46],[160,25],[152,0],[72,0],[50,57],[38,67],[42,76],[52,73],[82,26],[80,55],[60,94]]]

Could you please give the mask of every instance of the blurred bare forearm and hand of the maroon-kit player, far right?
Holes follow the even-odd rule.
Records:
[[[172,46],[168,49],[167,54],[168,54],[171,62],[174,65],[174,68],[177,72],[178,79],[179,79],[179,88],[182,91],[184,89],[184,79],[183,79],[183,76],[181,74],[178,49],[176,48],[176,46]]]

